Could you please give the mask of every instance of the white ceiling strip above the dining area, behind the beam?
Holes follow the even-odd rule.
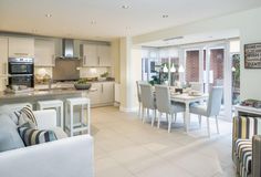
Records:
[[[177,46],[177,45],[202,43],[202,42],[218,41],[218,40],[226,40],[226,39],[236,39],[239,37],[240,37],[239,30],[231,29],[231,30],[226,30],[226,31],[175,37],[173,39],[171,38],[163,39],[158,41],[142,43],[140,45],[153,46],[153,48]]]

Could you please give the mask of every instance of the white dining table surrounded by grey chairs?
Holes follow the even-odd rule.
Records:
[[[192,95],[189,93],[174,93],[170,92],[170,100],[174,102],[178,102],[178,103],[184,103],[185,104],[185,131],[188,133],[189,132],[189,127],[190,127],[190,113],[189,113],[189,107],[191,103],[196,103],[196,102],[202,102],[206,101],[208,98],[208,94],[197,94],[197,95]]]

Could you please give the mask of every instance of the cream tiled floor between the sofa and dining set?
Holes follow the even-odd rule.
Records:
[[[92,110],[95,177],[233,177],[231,123],[220,121],[220,135],[213,119],[211,138],[206,121],[198,128],[192,116],[191,131],[184,132],[181,114],[167,133],[143,124],[134,113],[116,107]]]

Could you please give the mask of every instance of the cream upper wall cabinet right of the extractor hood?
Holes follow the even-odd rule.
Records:
[[[83,44],[82,56],[83,66],[112,66],[109,45]]]

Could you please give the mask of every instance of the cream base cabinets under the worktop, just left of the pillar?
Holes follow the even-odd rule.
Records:
[[[96,88],[96,91],[87,94],[92,106],[112,105],[114,103],[114,82],[92,83],[92,87]]]

